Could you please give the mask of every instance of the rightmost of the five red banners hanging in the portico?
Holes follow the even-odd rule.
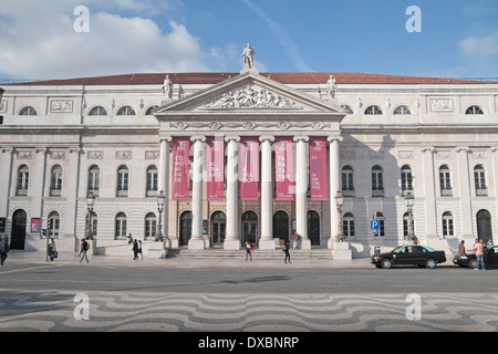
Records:
[[[310,138],[310,197],[311,200],[328,200],[326,190],[326,140]]]

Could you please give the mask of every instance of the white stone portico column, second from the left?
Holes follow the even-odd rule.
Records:
[[[189,249],[205,249],[203,239],[203,166],[204,166],[204,143],[203,135],[193,136],[194,143],[194,168],[191,186],[191,238],[188,241]]]

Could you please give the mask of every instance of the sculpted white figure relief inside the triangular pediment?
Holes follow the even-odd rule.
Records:
[[[303,110],[303,106],[270,90],[248,85],[224,93],[199,110]]]

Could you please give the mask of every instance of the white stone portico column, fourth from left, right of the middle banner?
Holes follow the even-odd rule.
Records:
[[[261,142],[261,239],[259,249],[273,250],[273,186],[271,169],[271,144],[273,136],[260,136]]]

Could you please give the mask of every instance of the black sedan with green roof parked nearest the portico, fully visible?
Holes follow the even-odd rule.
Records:
[[[435,251],[427,246],[403,244],[391,252],[372,256],[370,262],[377,268],[419,266],[433,269],[437,263],[446,262],[446,254],[444,251]]]

